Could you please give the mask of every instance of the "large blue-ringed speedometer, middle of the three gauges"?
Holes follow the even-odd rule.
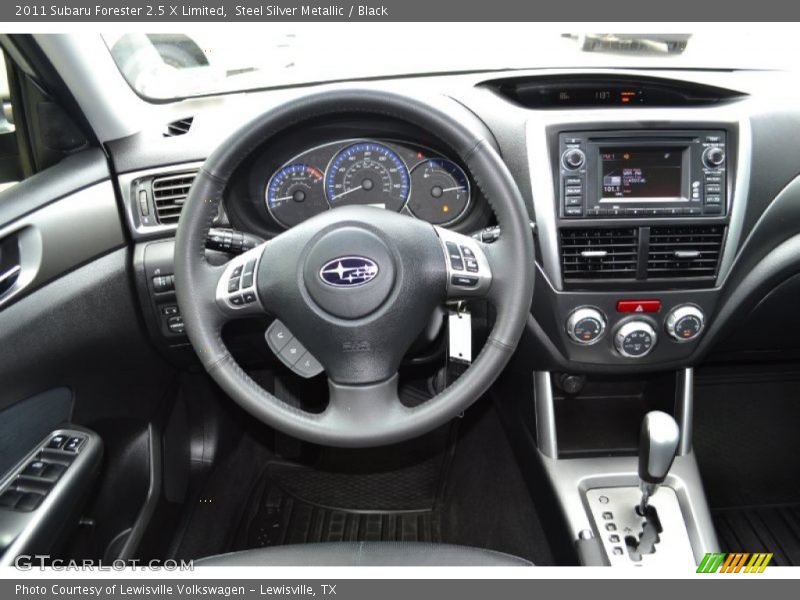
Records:
[[[400,211],[410,188],[408,169],[390,148],[359,142],[331,161],[325,192],[332,208],[344,204],[369,204]]]

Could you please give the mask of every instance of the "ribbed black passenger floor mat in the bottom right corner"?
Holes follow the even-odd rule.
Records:
[[[800,565],[800,504],[714,511],[723,552],[772,552],[775,566]]]

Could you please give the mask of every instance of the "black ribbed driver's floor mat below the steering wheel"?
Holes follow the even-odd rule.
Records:
[[[360,460],[351,460],[352,450],[326,448],[313,465],[271,461],[231,549],[314,542],[441,542],[442,482],[454,453],[455,427],[429,434],[424,446],[434,451],[421,452],[418,459],[394,447],[361,451]],[[395,464],[387,470],[390,460]],[[378,464],[381,468],[373,469]]]

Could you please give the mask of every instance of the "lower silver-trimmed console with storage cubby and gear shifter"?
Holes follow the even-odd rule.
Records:
[[[719,544],[692,452],[693,372],[632,379],[575,394],[536,372],[539,459],[581,564],[694,569]]]

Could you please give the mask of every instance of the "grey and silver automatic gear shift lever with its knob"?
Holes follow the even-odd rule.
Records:
[[[650,496],[666,479],[675,459],[679,438],[678,424],[670,415],[658,410],[645,415],[639,432],[640,515],[645,514]]]

